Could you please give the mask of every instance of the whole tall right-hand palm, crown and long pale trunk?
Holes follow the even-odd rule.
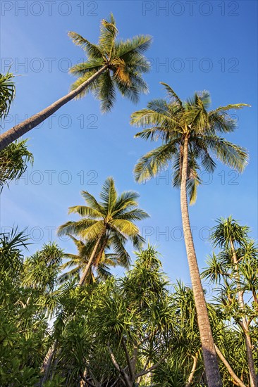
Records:
[[[180,186],[180,205],[183,221],[185,247],[192,280],[192,289],[197,308],[198,326],[202,341],[204,365],[209,387],[221,386],[219,367],[216,361],[214,341],[202,289],[195,246],[190,229],[188,213],[188,195],[190,203],[195,203],[197,186],[201,184],[198,175],[201,167],[214,172],[214,157],[223,164],[242,172],[247,165],[247,152],[244,148],[232,144],[221,133],[233,132],[235,121],[228,115],[228,110],[247,106],[244,103],[231,104],[208,110],[209,92],[195,93],[183,102],[175,91],[164,84],[168,99],[155,99],[148,103],[146,109],[133,113],[131,122],[142,132],[135,137],[161,139],[162,145],[140,158],[135,166],[135,178],[138,182],[154,177],[172,163],[173,186]]]

